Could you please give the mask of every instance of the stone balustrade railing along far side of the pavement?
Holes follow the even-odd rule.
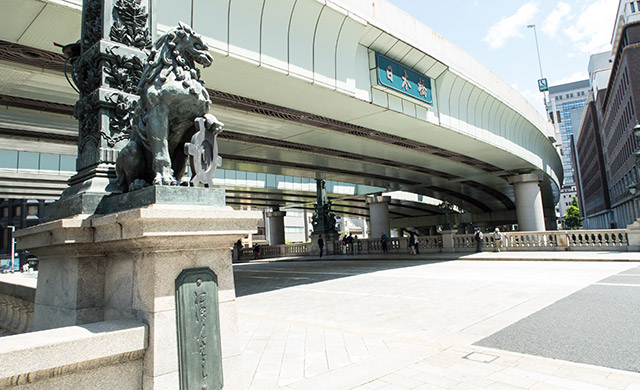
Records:
[[[548,232],[503,232],[500,250],[506,251],[628,251],[637,250],[630,244],[627,229],[608,230],[561,230]],[[640,236],[640,233],[638,233]],[[632,248],[634,247],[634,248]],[[419,237],[420,253],[473,252],[476,242],[473,234],[458,234],[444,231],[436,236]],[[483,251],[496,250],[493,233],[484,234]],[[388,253],[410,253],[408,237],[394,237],[387,242]],[[361,239],[354,245],[343,246],[340,241],[327,245],[326,254],[380,254],[382,242],[379,238]],[[260,246],[260,258],[288,256],[317,256],[317,245],[311,243]],[[251,248],[243,248],[239,260],[254,258]]]

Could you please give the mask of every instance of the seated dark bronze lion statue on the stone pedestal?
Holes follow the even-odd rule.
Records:
[[[189,159],[184,145],[196,132],[196,118],[216,134],[222,131],[208,113],[209,93],[195,67],[212,62],[202,37],[183,23],[155,42],[138,84],[131,139],[116,161],[123,191],[181,183]]]

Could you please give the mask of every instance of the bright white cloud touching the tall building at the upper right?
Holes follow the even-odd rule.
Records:
[[[565,32],[578,54],[590,54],[610,49],[618,0],[596,0],[580,12],[575,25]]]

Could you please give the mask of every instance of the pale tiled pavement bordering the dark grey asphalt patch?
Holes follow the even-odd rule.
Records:
[[[640,390],[638,373],[473,345],[638,263],[428,260],[236,265],[247,388]]]

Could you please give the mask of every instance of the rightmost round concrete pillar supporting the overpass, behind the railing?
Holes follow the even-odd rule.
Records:
[[[520,231],[545,231],[540,181],[540,176],[533,173],[509,178],[509,183],[515,190],[516,214]]]

